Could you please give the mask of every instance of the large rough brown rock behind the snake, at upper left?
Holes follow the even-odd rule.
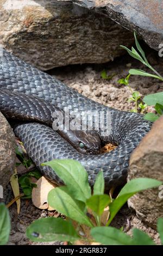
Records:
[[[41,70],[108,62],[133,44],[133,33],[79,4],[0,0],[0,43]]]

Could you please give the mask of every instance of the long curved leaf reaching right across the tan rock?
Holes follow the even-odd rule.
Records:
[[[149,188],[159,187],[162,184],[161,181],[149,179],[149,178],[137,178],[130,180],[120,191],[118,197],[109,205],[110,218],[107,223],[109,225],[112,219],[115,217],[121,207],[127,202],[127,200],[134,194],[148,190]]]

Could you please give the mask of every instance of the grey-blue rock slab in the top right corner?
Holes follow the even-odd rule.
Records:
[[[159,45],[163,42],[162,0],[72,0],[72,2],[108,15],[124,28],[136,31],[155,50],[160,49]]]

